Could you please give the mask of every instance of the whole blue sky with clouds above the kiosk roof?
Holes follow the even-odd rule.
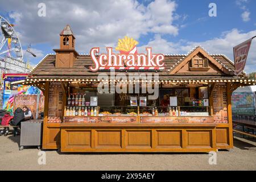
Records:
[[[46,16],[38,16],[38,4],[46,5]],[[208,15],[209,3],[216,3],[217,17]],[[65,4],[66,3],[66,4]],[[68,3],[68,6],[67,6]],[[70,10],[67,10],[69,7]],[[139,50],[151,46],[157,53],[187,53],[203,46],[210,53],[224,53],[233,60],[233,47],[256,35],[254,0],[156,0],[156,1],[6,1],[0,15],[15,23],[23,49],[32,44],[37,64],[59,47],[59,33],[71,25],[76,49],[88,53],[91,47],[116,46],[118,38],[132,36]],[[256,39],[250,49],[246,72],[256,71]]]

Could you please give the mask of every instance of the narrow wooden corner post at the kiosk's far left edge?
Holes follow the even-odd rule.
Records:
[[[49,82],[44,86],[44,120],[43,120],[43,148],[47,145],[47,121],[48,121],[48,103],[49,103]]]

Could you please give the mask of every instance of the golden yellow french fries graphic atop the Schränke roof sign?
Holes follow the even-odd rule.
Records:
[[[125,36],[123,39],[118,39],[118,46],[115,48],[117,51],[129,52],[131,51],[138,42],[133,38]]]

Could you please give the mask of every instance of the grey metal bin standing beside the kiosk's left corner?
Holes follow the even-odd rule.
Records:
[[[32,119],[20,123],[20,147],[23,150],[24,146],[40,146],[42,144],[42,119]]]

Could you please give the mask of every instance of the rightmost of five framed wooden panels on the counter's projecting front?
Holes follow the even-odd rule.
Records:
[[[211,131],[187,131],[188,147],[211,147],[212,146],[212,134]]]

